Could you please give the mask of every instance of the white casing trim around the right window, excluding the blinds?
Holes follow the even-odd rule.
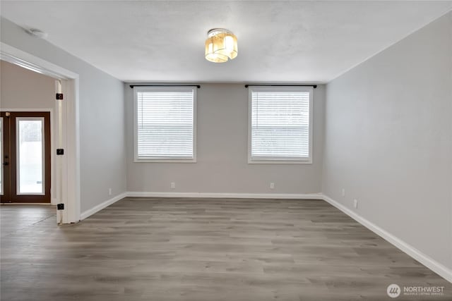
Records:
[[[309,156],[290,157],[290,156],[251,156],[251,128],[252,128],[252,94],[253,92],[309,92]],[[312,164],[312,141],[313,141],[313,87],[269,87],[253,86],[248,88],[248,164]]]

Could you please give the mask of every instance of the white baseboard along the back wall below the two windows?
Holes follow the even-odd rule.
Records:
[[[211,197],[225,199],[323,199],[321,193],[127,192],[128,197]]]

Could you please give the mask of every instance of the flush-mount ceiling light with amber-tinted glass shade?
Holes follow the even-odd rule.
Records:
[[[234,59],[237,54],[237,37],[230,30],[214,28],[207,32],[206,60],[224,63]]]

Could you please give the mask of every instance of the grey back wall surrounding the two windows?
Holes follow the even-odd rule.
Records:
[[[198,89],[197,163],[134,163],[129,84],[124,92],[129,191],[321,192],[324,86],[314,89],[314,164],[247,164],[248,89],[242,84],[203,84]]]

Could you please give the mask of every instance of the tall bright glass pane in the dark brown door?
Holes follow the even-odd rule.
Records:
[[[44,118],[17,118],[18,195],[44,194]]]

